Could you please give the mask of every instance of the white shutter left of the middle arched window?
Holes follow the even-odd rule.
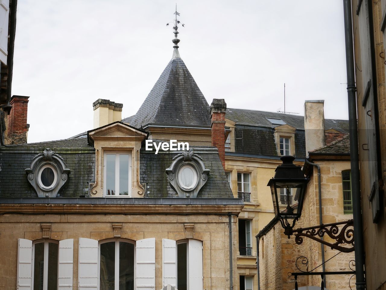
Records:
[[[98,241],[79,238],[78,290],[98,288]]]

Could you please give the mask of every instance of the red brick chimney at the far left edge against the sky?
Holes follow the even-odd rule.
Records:
[[[27,143],[27,96],[12,96],[10,104],[12,109],[8,118],[7,138],[8,144]]]

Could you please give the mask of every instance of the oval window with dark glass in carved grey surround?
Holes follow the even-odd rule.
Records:
[[[67,182],[71,170],[66,167],[61,156],[47,148],[34,157],[25,172],[38,197],[56,197]]]

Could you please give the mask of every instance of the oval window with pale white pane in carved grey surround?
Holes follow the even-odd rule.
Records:
[[[193,150],[184,151],[173,158],[166,173],[168,181],[181,198],[196,198],[208,181],[210,169],[206,169],[202,158]]]

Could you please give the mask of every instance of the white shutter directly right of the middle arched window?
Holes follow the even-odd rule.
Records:
[[[156,288],[156,239],[140,239],[135,245],[135,285],[137,290]]]

